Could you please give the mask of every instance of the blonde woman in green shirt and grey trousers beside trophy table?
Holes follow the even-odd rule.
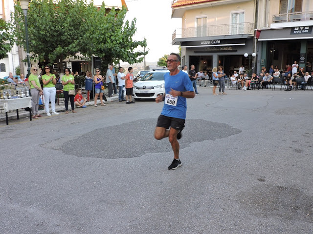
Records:
[[[28,82],[30,83],[30,93],[31,93],[31,112],[33,118],[43,117],[42,115],[38,114],[38,102],[41,95],[43,95],[43,89],[41,88],[41,84],[37,75],[37,67],[32,66],[31,74],[28,78]]]

